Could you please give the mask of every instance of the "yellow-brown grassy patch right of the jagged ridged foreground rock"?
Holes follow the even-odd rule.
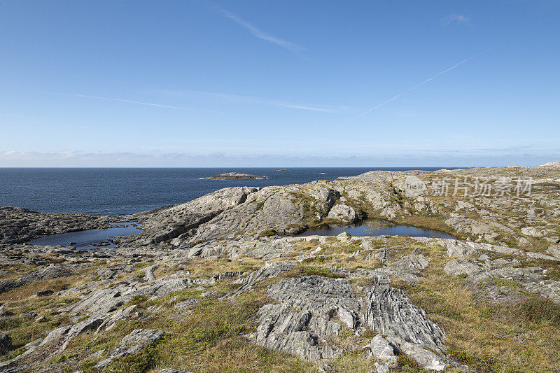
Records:
[[[449,258],[442,249],[423,250],[430,260],[423,270],[426,280],[401,286],[414,304],[442,325],[452,358],[477,372],[558,371],[558,326],[527,320],[507,312],[507,305],[479,299],[470,286],[444,274],[442,267]]]

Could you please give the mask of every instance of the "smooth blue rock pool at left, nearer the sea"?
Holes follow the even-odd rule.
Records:
[[[113,237],[130,236],[131,234],[142,232],[138,228],[139,223],[109,223],[112,228],[106,230],[82,230],[80,232],[69,232],[62,234],[51,234],[27,242],[31,245],[50,245],[50,246],[75,246],[76,248],[113,248],[115,244],[109,242]]]

